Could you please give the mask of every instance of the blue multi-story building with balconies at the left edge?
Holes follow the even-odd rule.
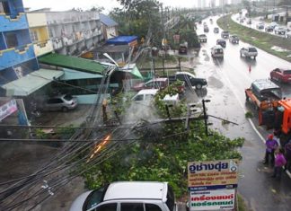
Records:
[[[0,84],[39,69],[22,0],[0,1]]]

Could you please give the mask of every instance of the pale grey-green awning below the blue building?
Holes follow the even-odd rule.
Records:
[[[63,74],[61,70],[40,69],[1,87],[6,90],[6,96],[28,96]]]

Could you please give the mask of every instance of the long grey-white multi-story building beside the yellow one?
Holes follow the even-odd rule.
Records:
[[[58,54],[80,56],[103,40],[98,12],[45,12],[48,36]]]

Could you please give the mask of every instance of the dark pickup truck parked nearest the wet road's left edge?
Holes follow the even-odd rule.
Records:
[[[188,72],[177,72],[175,75],[168,76],[169,81],[180,80],[185,82],[186,86],[194,86],[196,89],[201,89],[207,85],[207,80],[204,78],[197,78]]]

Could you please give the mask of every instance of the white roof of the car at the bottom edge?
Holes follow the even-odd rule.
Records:
[[[117,181],[110,183],[104,201],[114,199],[160,199],[166,201],[167,182]]]

